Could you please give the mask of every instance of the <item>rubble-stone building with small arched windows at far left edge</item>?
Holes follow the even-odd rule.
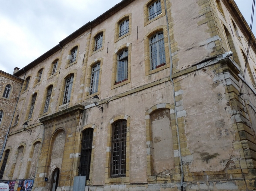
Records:
[[[19,70],[19,68],[14,69]],[[0,156],[2,155],[2,147],[7,138],[6,134],[10,124],[12,122],[13,124],[18,123],[18,118],[13,116],[19,113],[19,111],[15,110],[15,107],[23,81],[17,76],[0,70]]]

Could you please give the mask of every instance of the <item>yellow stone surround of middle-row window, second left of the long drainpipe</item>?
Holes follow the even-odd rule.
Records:
[[[118,54],[121,51],[123,51],[124,49],[128,49],[128,76],[127,76],[126,81],[123,81],[121,83],[117,83],[115,85],[116,75],[117,75],[117,57],[118,57]],[[123,85],[131,82],[131,58],[132,58],[131,55],[132,55],[132,43],[123,44],[122,46],[118,47],[115,50],[115,52],[113,53],[111,89],[123,86]]]

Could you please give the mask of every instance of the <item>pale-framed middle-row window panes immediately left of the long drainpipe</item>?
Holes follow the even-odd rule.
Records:
[[[163,32],[159,32],[150,38],[150,64],[151,69],[166,63]]]

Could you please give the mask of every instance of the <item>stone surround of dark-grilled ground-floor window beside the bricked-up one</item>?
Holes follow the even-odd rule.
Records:
[[[127,134],[126,134],[126,177],[118,177],[118,178],[110,178],[110,162],[111,162],[111,137],[112,137],[112,124],[116,122],[119,119],[125,119],[126,120],[126,128],[127,128]],[[108,123],[108,137],[107,137],[107,148],[106,148],[106,168],[105,168],[105,184],[113,184],[113,183],[120,183],[120,182],[130,182],[130,116],[128,115],[119,115],[111,119]]]

